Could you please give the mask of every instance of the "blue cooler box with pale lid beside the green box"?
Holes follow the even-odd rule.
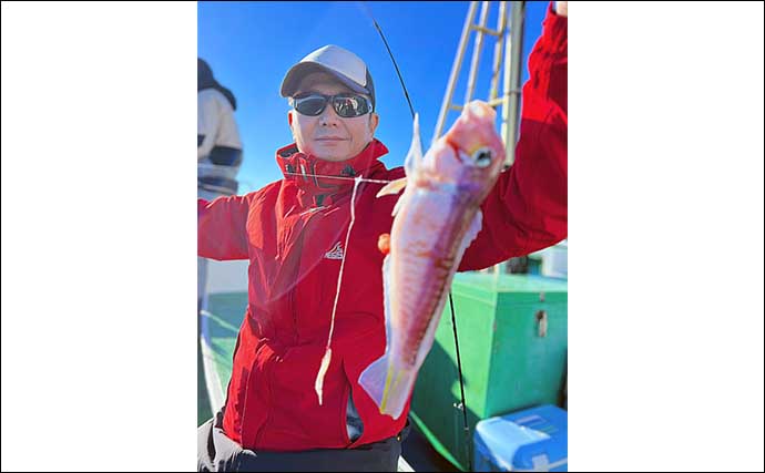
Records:
[[[482,420],[473,442],[477,472],[568,471],[568,414],[555,405]]]

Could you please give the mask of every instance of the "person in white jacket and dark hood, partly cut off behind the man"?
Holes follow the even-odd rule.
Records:
[[[236,174],[242,165],[242,140],[234,120],[236,97],[213,76],[210,65],[197,58],[196,69],[197,197],[212,200],[238,191]],[[207,260],[197,258],[197,310],[204,309]]]

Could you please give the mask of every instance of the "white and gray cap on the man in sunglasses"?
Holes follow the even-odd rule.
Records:
[[[353,52],[335,44],[317,49],[289,68],[282,81],[282,96],[292,96],[297,92],[303,78],[312,72],[327,72],[354,92],[369,95],[371,107],[375,109],[375,84],[367,64]]]

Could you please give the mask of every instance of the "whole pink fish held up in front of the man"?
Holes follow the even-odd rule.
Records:
[[[394,208],[382,264],[387,347],[359,383],[381,413],[397,419],[432,347],[448,288],[465,250],[481,229],[480,205],[497,182],[504,146],[494,111],[471,102],[451,130],[422,156],[418,120],[405,162],[407,177],[377,196],[406,186]]]

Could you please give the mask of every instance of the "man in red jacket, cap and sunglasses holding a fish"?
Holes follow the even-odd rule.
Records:
[[[560,2],[559,2],[560,3]],[[560,9],[560,7],[559,7]],[[481,206],[483,226],[460,270],[486,268],[567,236],[567,19],[548,12],[529,64],[516,164]],[[294,65],[282,84],[295,143],[276,152],[282,181],[198,203],[200,256],[248,259],[248,306],[224,412],[200,428],[200,470],[396,471],[408,404],[382,415],[358,385],[385,351],[380,234],[397,196],[387,153],[374,137],[375,88],[361,59],[328,45]],[[340,263],[333,359],[319,405],[324,356]]]

